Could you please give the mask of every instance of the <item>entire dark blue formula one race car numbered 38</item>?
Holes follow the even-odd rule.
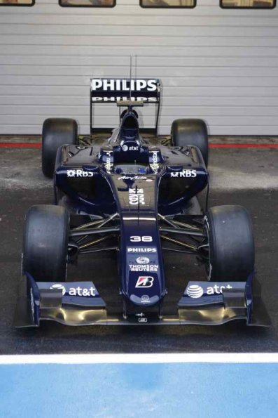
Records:
[[[219,325],[235,319],[268,325],[254,278],[249,214],[234,205],[202,209],[198,200],[209,185],[205,123],[174,120],[172,146],[144,138],[134,107],[158,106],[157,133],[157,79],[92,79],[91,108],[113,102],[126,109],[119,127],[100,144],[92,139],[78,145],[74,119],[43,124],[42,168],[54,176],[55,205],[33,206],[25,219],[15,326],[39,326],[41,320]],[[171,314],[162,309],[166,251],[197,256],[209,280],[185,282]],[[115,287],[123,304],[116,313],[93,282],[67,282],[67,264],[95,252],[117,254]]]

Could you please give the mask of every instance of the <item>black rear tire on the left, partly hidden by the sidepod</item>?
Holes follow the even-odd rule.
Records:
[[[74,119],[50,118],[43,122],[41,168],[53,178],[57,149],[64,144],[77,144],[77,122]]]

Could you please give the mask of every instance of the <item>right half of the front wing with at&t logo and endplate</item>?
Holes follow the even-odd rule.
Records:
[[[178,303],[181,321],[221,325],[246,320],[246,325],[270,326],[271,321],[253,274],[246,282],[189,282]]]

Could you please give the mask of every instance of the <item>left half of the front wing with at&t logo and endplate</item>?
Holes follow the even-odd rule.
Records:
[[[15,327],[39,327],[41,320],[64,325],[106,321],[106,303],[93,282],[36,282],[26,273],[20,283]]]

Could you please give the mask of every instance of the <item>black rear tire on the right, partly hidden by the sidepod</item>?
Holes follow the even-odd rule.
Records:
[[[209,161],[209,141],[207,125],[202,119],[176,119],[171,128],[172,143],[174,147],[194,145],[199,148],[204,164]]]

